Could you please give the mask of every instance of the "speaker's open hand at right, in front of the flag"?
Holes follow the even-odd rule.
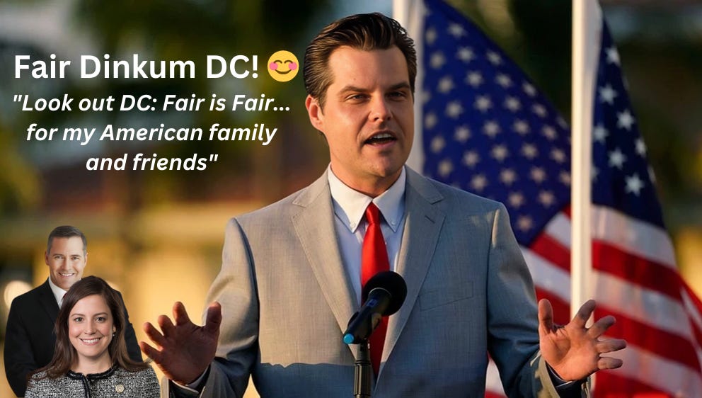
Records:
[[[621,359],[602,354],[621,350],[626,347],[626,341],[599,339],[614,324],[614,317],[609,315],[597,319],[592,326],[585,327],[594,307],[594,300],[588,300],[567,325],[558,326],[553,324],[551,302],[539,301],[541,356],[563,380],[582,380],[597,370],[615,369],[622,365]]]

